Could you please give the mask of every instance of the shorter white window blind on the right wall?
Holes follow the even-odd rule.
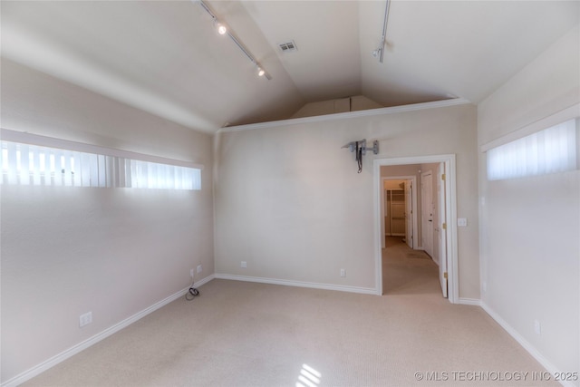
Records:
[[[576,120],[488,150],[488,179],[516,179],[577,168]]]

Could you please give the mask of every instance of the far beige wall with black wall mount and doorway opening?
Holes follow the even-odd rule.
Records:
[[[341,147],[362,138],[380,140],[381,151],[367,153],[358,174],[353,153]],[[224,131],[216,272],[375,289],[372,160],[455,153],[458,214],[474,220],[459,234],[459,296],[478,298],[476,146],[471,104]]]

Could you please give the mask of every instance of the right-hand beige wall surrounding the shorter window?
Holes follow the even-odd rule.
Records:
[[[580,102],[579,35],[576,26],[478,105],[479,145]],[[488,181],[485,161],[481,152],[483,305],[550,371],[580,372],[580,171]]]

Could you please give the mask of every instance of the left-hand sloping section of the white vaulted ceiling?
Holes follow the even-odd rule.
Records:
[[[194,2],[2,2],[2,54],[200,131],[290,116],[304,101],[261,32],[235,3],[224,19],[272,81]]]

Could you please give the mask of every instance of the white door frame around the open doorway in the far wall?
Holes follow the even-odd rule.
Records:
[[[459,304],[459,270],[457,243],[457,186],[455,154],[415,156],[392,159],[374,159],[372,162],[373,203],[374,203],[374,256],[375,293],[382,295],[382,235],[381,235],[381,167],[391,165],[430,164],[445,165],[445,218],[447,219],[447,270],[448,299],[451,304]]]

